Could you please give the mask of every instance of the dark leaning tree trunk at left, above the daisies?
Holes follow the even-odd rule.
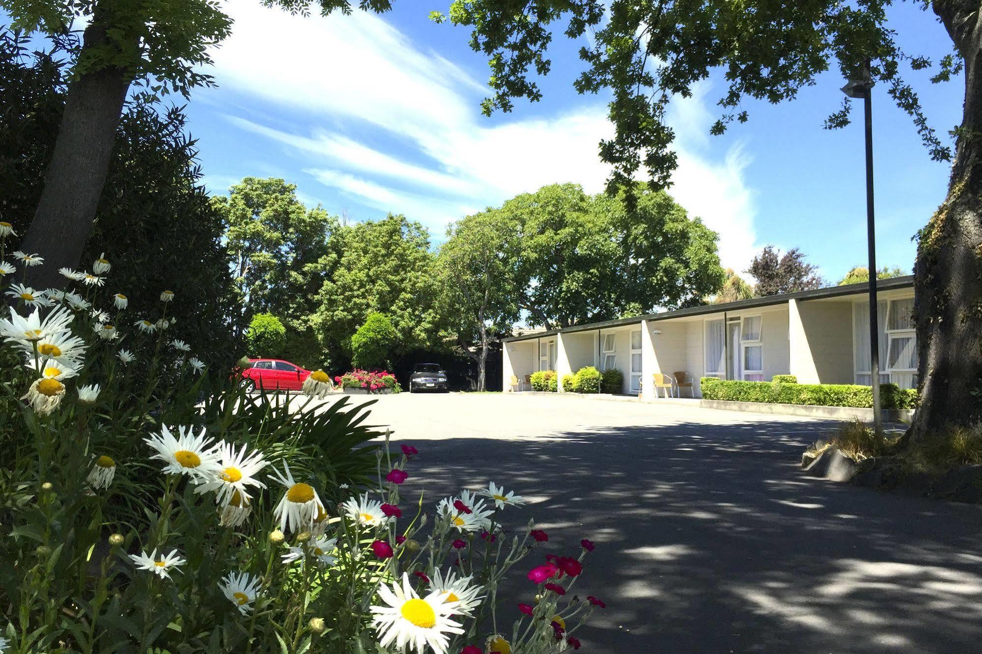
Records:
[[[105,23],[93,20],[85,28],[80,61],[85,60],[86,51],[105,42]],[[21,242],[21,249],[44,257],[45,265],[28,270],[33,286],[61,286],[65,279],[58,268],[79,265],[106,182],[131,78],[124,69],[103,68],[69,84],[44,189]]]

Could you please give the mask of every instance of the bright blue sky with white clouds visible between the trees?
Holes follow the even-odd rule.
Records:
[[[355,11],[291,17],[258,0],[227,2],[233,35],[214,52],[216,88],[188,106],[210,191],[245,176],[283,177],[307,203],[351,220],[405,213],[442,239],[449,221],[554,182],[600,191],[597,142],[610,132],[603,96],[572,88],[581,70],[557,35],[539,103],[480,115],[487,64],[468,32],[431,23],[434,7],[401,0],[382,17]],[[933,15],[892,9],[900,44],[937,60],[951,41]],[[939,132],[958,122],[961,80],[911,81]],[[750,102],[750,122],[709,136],[718,82],[674,105],[681,166],[670,192],[721,235],[725,265],[745,268],[763,245],[799,246],[835,281],[864,263],[862,127],[822,129],[844,81],[822,76],[782,105]],[[853,115],[861,118],[861,106]],[[878,260],[913,264],[911,237],[944,198],[948,164],[930,161],[909,118],[874,89]]]

